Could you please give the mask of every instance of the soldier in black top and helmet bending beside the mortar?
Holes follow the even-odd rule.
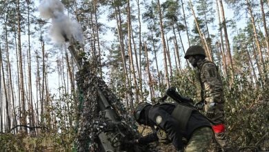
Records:
[[[132,143],[172,142],[177,151],[183,152],[184,137],[187,140],[185,151],[206,151],[212,140],[210,122],[199,111],[181,104],[163,103],[152,106],[146,102],[137,105],[134,111],[139,124],[156,126],[157,132]]]

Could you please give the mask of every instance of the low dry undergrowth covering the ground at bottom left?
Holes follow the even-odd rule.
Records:
[[[0,135],[0,151],[71,151],[74,133],[43,133],[28,136],[25,133]]]

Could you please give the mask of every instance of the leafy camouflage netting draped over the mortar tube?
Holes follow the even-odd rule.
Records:
[[[96,61],[96,60],[95,60]],[[121,122],[128,126],[128,139],[138,137],[135,121],[126,111],[119,99],[110,91],[106,83],[96,75],[96,64],[85,62],[77,73],[77,87],[79,90],[79,123],[77,131],[78,151],[98,151],[97,136],[107,129],[104,115],[99,113],[98,88],[108,99],[112,108],[119,115]],[[148,149],[149,150],[149,149]]]

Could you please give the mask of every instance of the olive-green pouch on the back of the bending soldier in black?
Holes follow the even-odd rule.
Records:
[[[172,117],[174,117],[179,122],[179,129],[181,131],[186,130],[188,120],[190,119],[190,115],[192,115],[193,110],[193,108],[188,106],[177,104],[174,111],[172,111]]]

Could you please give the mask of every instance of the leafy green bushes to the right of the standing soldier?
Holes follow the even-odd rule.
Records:
[[[226,95],[226,124],[232,146],[255,146],[269,131],[268,85],[251,84],[246,74],[236,77],[229,87],[224,81]]]

